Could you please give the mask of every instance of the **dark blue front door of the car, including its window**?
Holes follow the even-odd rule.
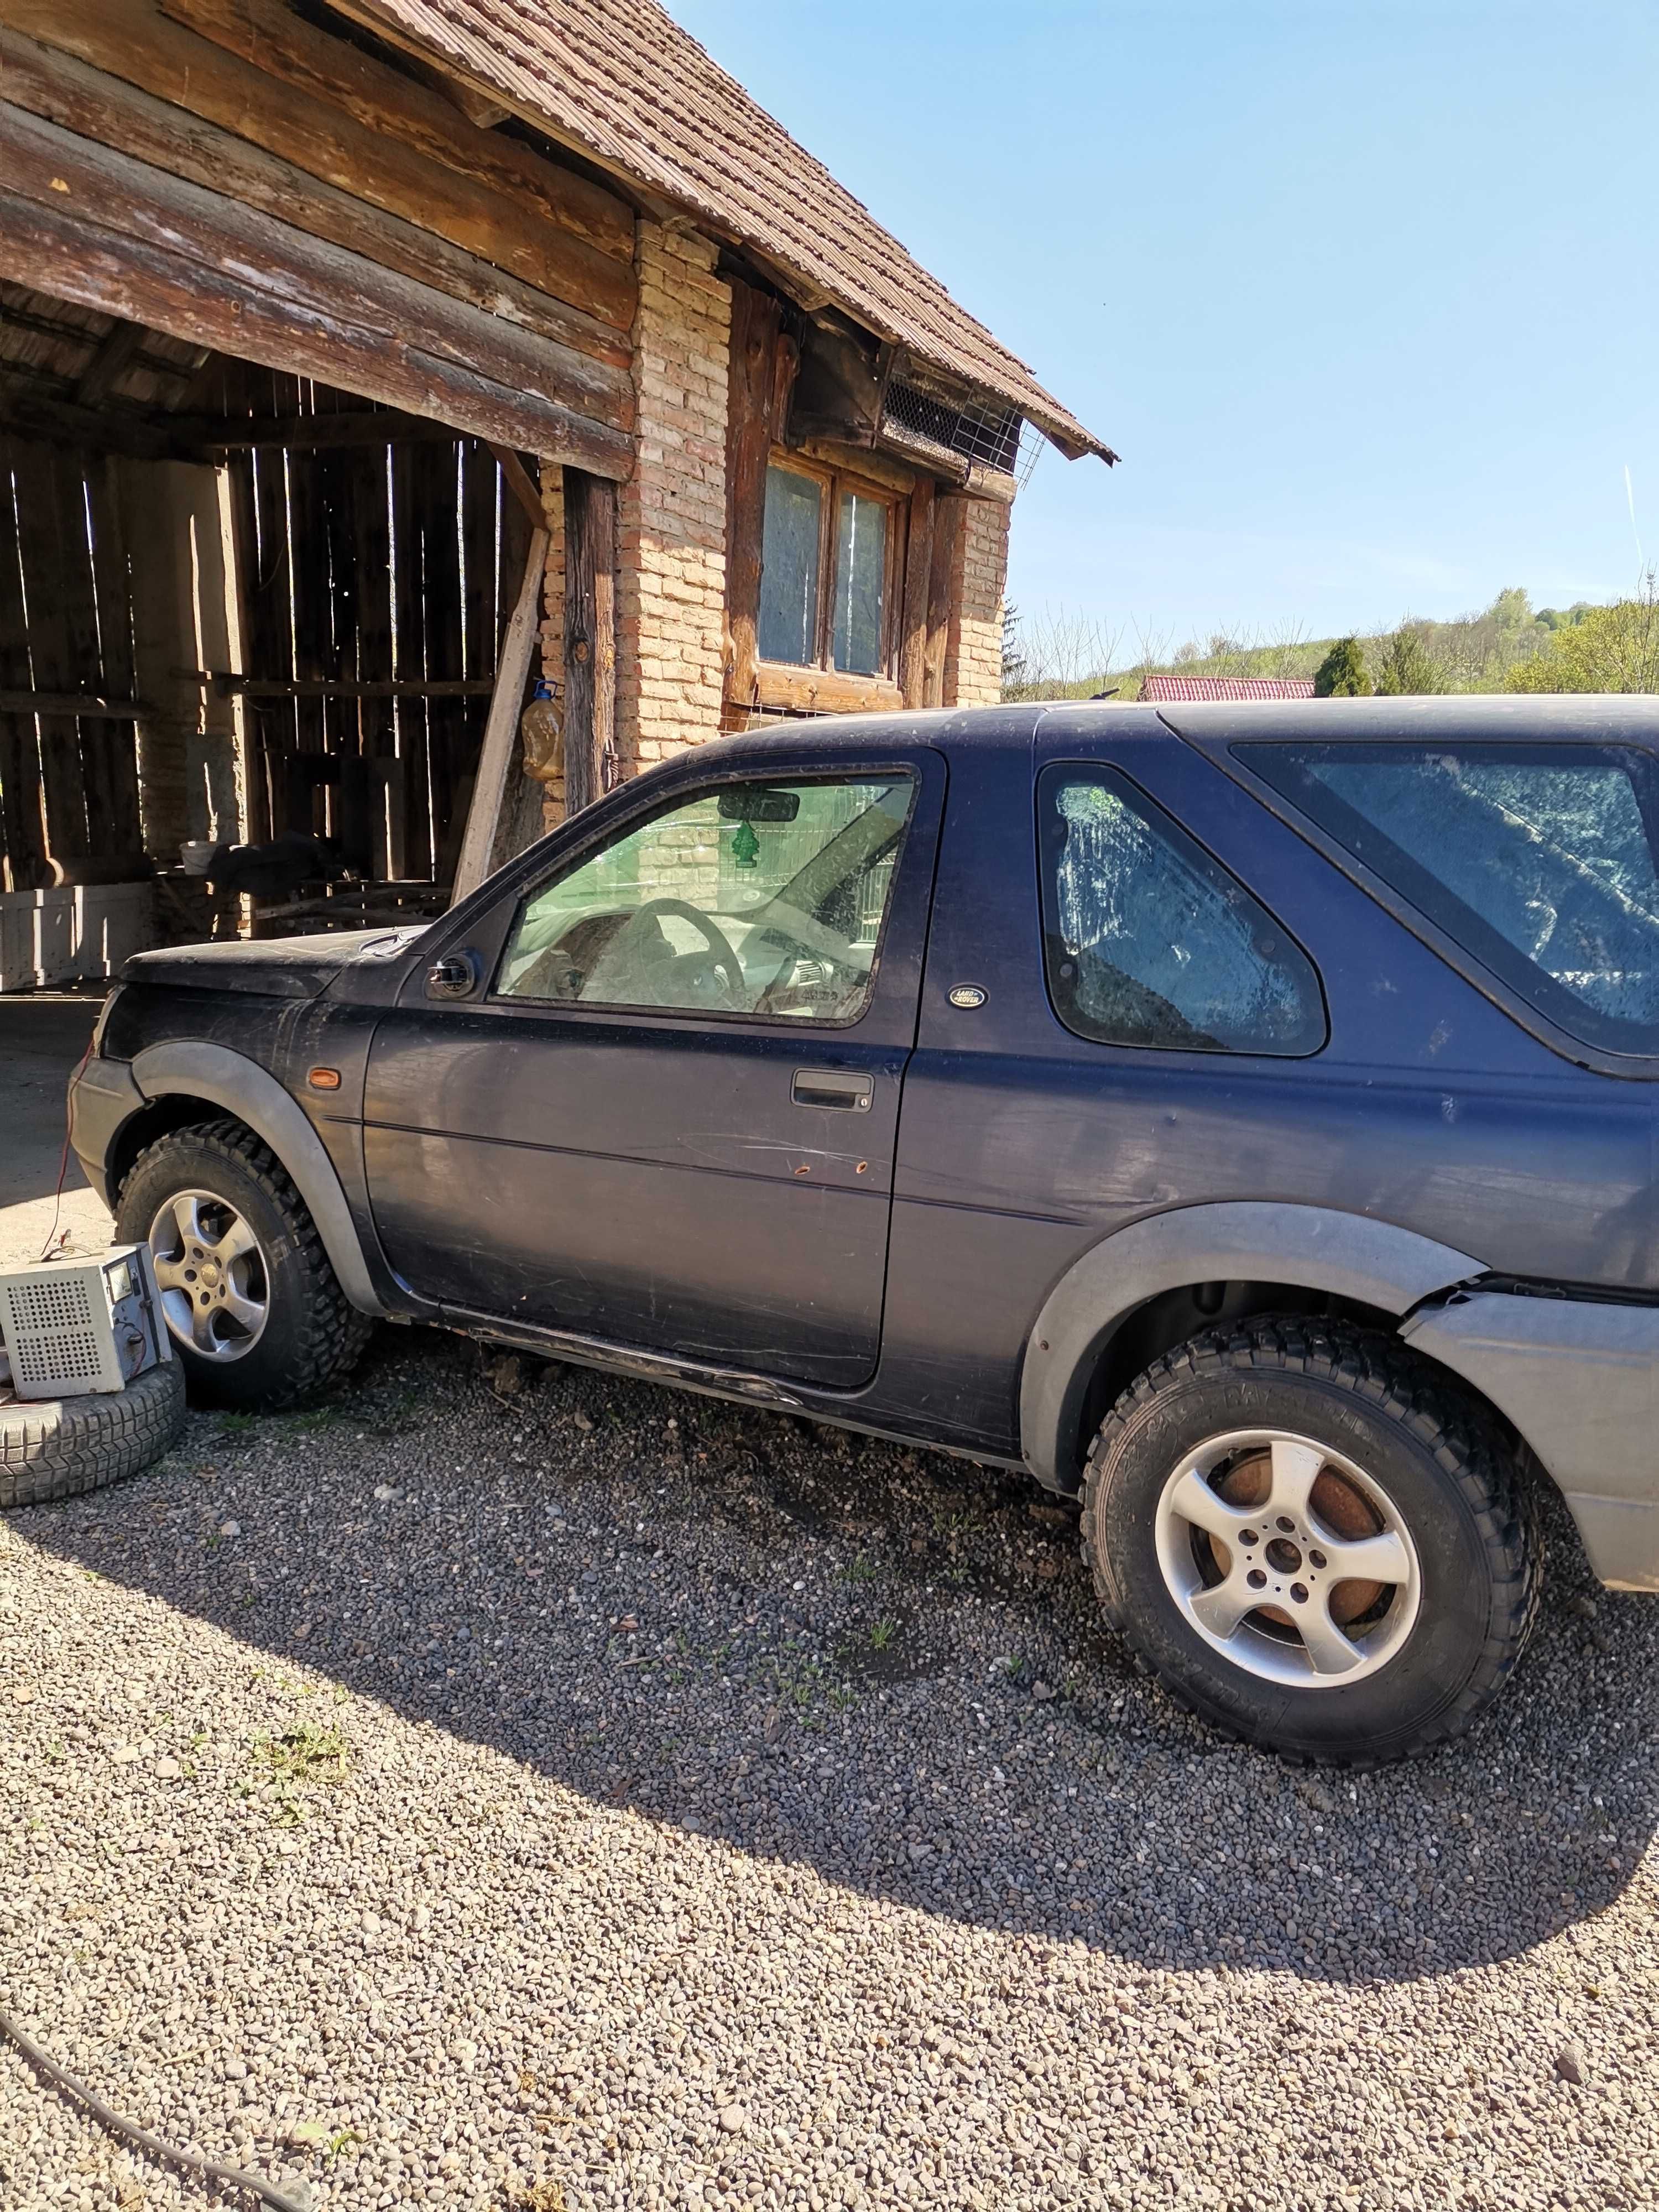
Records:
[[[905,748],[641,796],[440,942],[363,1110],[409,1287],[865,1383],[942,794],[942,757]]]

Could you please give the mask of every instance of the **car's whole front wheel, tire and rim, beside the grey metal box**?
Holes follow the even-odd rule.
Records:
[[[314,1398],[369,1340],[301,1194],[241,1121],[173,1130],[139,1152],[115,1234],[150,1248],[173,1349],[201,1402]]]

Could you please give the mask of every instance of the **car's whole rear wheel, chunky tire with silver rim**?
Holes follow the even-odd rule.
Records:
[[[1460,1734],[1537,1604],[1531,1493],[1491,1418],[1345,1323],[1250,1321],[1148,1367],[1088,1455],[1084,1551],[1177,1697],[1301,1759]]]

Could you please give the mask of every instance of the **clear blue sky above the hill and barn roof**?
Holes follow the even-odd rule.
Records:
[[[1652,0],[670,0],[1124,456],[1009,593],[1177,644],[1659,555]]]

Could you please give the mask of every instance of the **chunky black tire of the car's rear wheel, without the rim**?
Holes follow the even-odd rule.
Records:
[[[1411,1528],[1418,1617],[1354,1686],[1232,1666],[1164,1582],[1164,1484],[1206,1438],[1256,1425],[1369,1464]],[[1088,1453],[1082,1535],[1108,1617],[1166,1690],[1245,1743],[1338,1765],[1411,1759],[1469,1728],[1515,1670],[1542,1579],[1537,1500],[1480,1400],[1380,1329],[1301,1316],[1210,1329],[1137,1376]]]

